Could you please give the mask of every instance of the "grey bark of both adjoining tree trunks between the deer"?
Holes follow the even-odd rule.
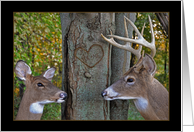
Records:
[[[136,19],[135,13],[60,14],[62,90],[68,94],[61,106],[62,120],[127,120],[129,106],[130,114],[136,116],[133,101],[106,101],[101,97],[101,91],[130,68],[131,53],[117,47],[112,50],[112,46],[101,37],[101,33],[107,36],[110,30],[113,34],[125,36],[124,15],[133,22]],[[132,38],[133,28],[127,25]]]

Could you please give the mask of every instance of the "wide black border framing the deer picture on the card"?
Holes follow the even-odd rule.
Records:
[[[12,58],[8,58],[11,56],[8,55],[10,52],[13,54],[13,47],[10,48],[13,44],[13,39],[10,39],[13,38],[13,12],[170,12],[170,121],[13,121],[13,97],[11,98],[13,85],[6,83],[8,78],[5,77],[6,74],[13,75],[13,71],[4,70],[13,69],[13,55]],[[3,55],[1,57],[3,73],[1,77],[5,80],[1,81],[1,130],[181,131],[181,84],[178,85],[181,83],[181,78],[176,78],[180,77],[177,68],[181,61],[181,56],[178,58],[178,53],[181,53],[181,50],[178,49],[181,48],[181,1],[3,1],[1,2],[1,28],[1,55]]]

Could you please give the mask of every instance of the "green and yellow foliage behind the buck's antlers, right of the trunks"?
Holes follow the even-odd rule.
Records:
[[[145,23],[143,37],[151,42],[151,31],[149,26],[148,15],[152,19],[154,35],[155,35],[155,46],[156,46],[156,55],[154,60],[157,65],[157,71],[155,78],[164,85],[164,87],[169,90],[169,40],[166,39],[166,36],[163,34],[162,25],[157,19],[155,13],[137,13],[137,19],[135,25],[138,30],[141,31]],[[137,36],[136,36],[137,37]],[[138,47],[138,46],[137,46]],[[142,51],[150,54],[151,50],[143,46]],[[166,64],[165,64],[166,62]],[[166,66],[166,69],[165,69]]]

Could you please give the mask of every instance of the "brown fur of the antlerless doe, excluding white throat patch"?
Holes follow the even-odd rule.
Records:
[[[33,77],[30,74],[26,74],[27,71],[30,69],[28,69],[28,67],[24,65],[24,62],[19,61],[19,63],[16,64],[16,67],[16,75],[20,78],[22,78],[22,76],[25,76],[26,79],[24,81],[26,90],[20,103],[16,120],[40,120],[42,114],[31,113],[29,111],[30,105],[37,101],[43,100],[55,101],[56,99],[60,98],[59,94],[63,91],[54,86],[51,81],[43,77],[44,73],[36,77]],[[22,73],[24,73],[25,75]],[[42,83],[44,87],[38,87],[38,83]]]

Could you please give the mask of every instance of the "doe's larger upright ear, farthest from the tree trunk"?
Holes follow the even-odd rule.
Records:
[[[21,80],[26,80],[27,74],[31,74],[32,71],[24,61],[19,60],[15,66],[15,73]]]

